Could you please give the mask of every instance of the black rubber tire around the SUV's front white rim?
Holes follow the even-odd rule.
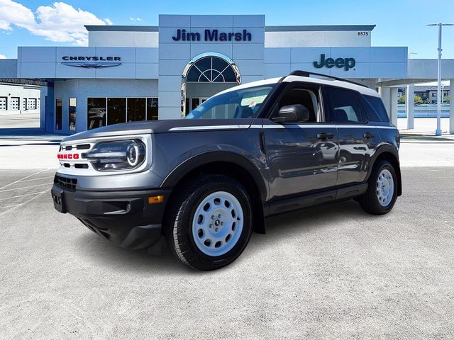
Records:
[[[239,237],[236,244],[226,254],[209,256],[196,245],[192,223],[196,209],[204,198],[218,192],[230,193],[238,200],[243,213],[243,229],[236,236]],[[240,256],[249,242],[253,219],[248,192],[238,181],[228,176],[214,174],[196,177],[181,188],[169,204],[164,226],[167,245],[178,259],[191,268],[211,271],[227,266]]]

